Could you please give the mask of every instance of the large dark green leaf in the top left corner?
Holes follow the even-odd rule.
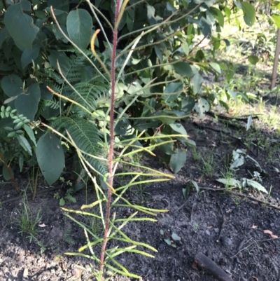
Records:
[[[27,0],[10,5],[4,15],[6,29],[20,50],[31,49],[39,31],[33,23],[33,18],[23,11],[31,11],[31,4]]]

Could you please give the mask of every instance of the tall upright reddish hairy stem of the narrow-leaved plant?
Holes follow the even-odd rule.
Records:
[[[116,60],[116,50],[118,44],[118,27],[116,23],[118,22],[118,16],[120,11],[120,0],[116,1],[116,8],[115,8],[115,27],[113,30],[113,48],[112,48],[112,57],[111,57],[111,108],[110,108],[110,146],[109,146],[109,185],[113,186],[113,140],[114,140],[114,100],[115,100],[115,60]],[[104,228],[104,238],[102,244],[102,252],[100,255],[100,271],[103,275],[104,269],[104,256],[105,256],[105,249],[107,244],[107,235],[109,230],[109,219],[110,219],[110,206],[111,206],[111,196],[112,190],[111,188],[108,189],[107,195],[107,204],[106,204],[106,221],[105,221],[105,228]]]

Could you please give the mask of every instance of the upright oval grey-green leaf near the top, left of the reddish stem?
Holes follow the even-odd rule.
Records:
[[[67,16],[66,27],[69,38],[79,48],[85,49],[92,37],[92,17],[84,9],[76,9]]]

